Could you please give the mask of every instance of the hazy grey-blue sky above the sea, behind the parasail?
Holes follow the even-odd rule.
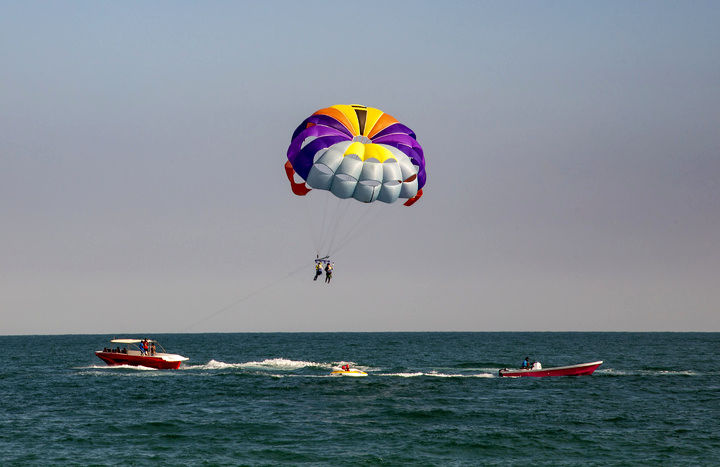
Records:
[[[720,331],[718,24],[717,1],[0,0],[0,334]],[[428,183],[325,286],[324,198],[283,163],[342,103],[411,127]]]

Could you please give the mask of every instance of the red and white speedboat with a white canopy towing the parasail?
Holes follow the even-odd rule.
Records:
[[[167,353],[165,349],[154,340],[147,339],[149,350],[146,353],[142,350],[142,339],[113,339],[113,344],[123,344],[123,348],[118,345],[115,348],[105,348],[96,350],[95,355],[108,365],[132,365],[146,366],[148,368],[157,368],[158,370],[177,370],[180,363],[189,360],[187,357],[174,353]],[[155,344],[153,346],[152,344]],[[153,352],[153,348],[160,347],[162,352],[157,350]]]

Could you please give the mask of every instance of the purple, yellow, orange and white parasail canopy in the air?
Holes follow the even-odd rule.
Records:
[[[362,105],[333,105],[306,118],[292,135],[287,157],[285,172],[299,196],[316,188],[364,203],[403,198],[410,206],[426,180],[415,133]]]

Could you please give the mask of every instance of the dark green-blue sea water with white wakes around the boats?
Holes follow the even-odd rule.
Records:
[[[108,367],[157,338],[180,370]],[[720,333],[0,337],[0,464],[720,465]],[[604,360],[592,376],[499,378]],[[332,377],[349,362],[365,378]]]

